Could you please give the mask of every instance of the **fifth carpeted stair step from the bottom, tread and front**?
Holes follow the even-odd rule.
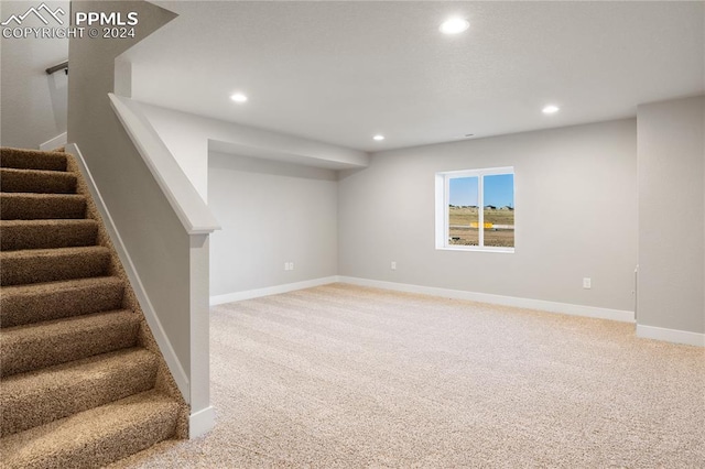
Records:
[[[100,246],[0,252],[0,285],[55,282],[108,274],[110,251]]]

